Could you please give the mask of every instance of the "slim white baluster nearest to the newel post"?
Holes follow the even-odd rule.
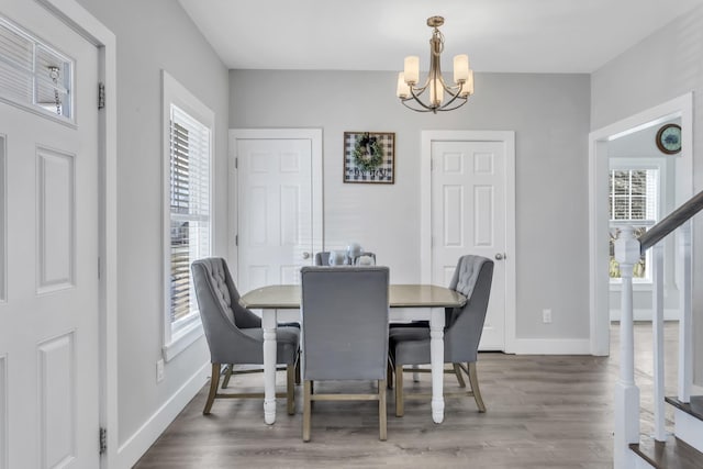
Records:
[[[654,342],[654,418],[657,442],[667,440],[665,425],[665,350],[663,350],[663,243],[652,248],[652,342]]]

